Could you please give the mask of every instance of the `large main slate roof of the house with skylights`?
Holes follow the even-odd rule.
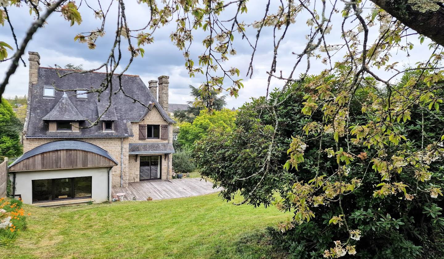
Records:
[[[74,90],[74,89],[90,89],[91,87],[98,89],[105,73],[72,73],[65,77],[60,78],[57,75],[57,71],[60,74],[69,72],[71,70],[63,71],[56,70],[54,68],[39,68],[38,83],[32,85],[32,89],[29,94],[29,119],[28,128],[26,131],[26,137],[29,138],[44,138],[44,137],[127,137],[132,136],[133,132],[128,127],[127,121],[140,121],[148,113],[148,108],[133,102],[129,97],[126,97],[122,91],[114,94],[116,91],[119,80],[117,76],[112,77],[112,89],[109,84],[108,89],[103,93],[88,93],[87,99],[76,98],[75,91],[66,92],[67,98],[77,109],[85,119],[95,121],[99,117],[99,110],[103,105],[107,106],[108,100],[111,95],[111,103],[114,111],[108,109],[105,118],[116,119],[114,122],[114,131],[103,132],[101,124],[97,124],[90,128],[81,128],[80,132],[48,132],[48,121],[42,120],[48,113],[50,113],[55,106],[62,99],[63,92],[55,91],[55,97],[44,97],[43,88],[44,85],[55,85],[56,89]],[[147,86],[143,83],[142,79],[137,75],[123,75],[122,87],[125,93],[131,97],[136,98],[143,104],[148,105],[150,102],[154,104],[152,108],[158,108],[160,114],[169,123],[175,123],[168,114],[163,110],[160,104],[151,95],[151,92]],[[100,100],[98,100],[98,97]],[[104,103],[99,104],[98,103]],[[111,108],[111,107],[110,107]],[[55,117],[51,117],[53,119]],[[103,117],[101,118],[103,120]],[[71,118],[73,120],[73,118]],[[87,121],[80,121],[80,127],[89,126]]]

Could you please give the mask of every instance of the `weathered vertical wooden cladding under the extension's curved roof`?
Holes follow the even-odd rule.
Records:
[[[67,169],[115,166],[110,159],[83,150],[55,150],[27,158],[11,166],[9,171]]]

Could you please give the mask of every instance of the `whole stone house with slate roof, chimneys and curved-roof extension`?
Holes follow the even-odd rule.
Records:
[[[29,54],[24,155],[9,166],[15,195],[38,206],[111,200],[113,187],[170,179],[169,77],[149,81],[40,66]],[[64,91],[63,91],[64,90]],[[95,123],[96,122],[96,123]]]

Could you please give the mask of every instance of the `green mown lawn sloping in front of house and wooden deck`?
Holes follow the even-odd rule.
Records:
[[[163,201],[36,208],[28,229],[0,255],[14,258],[269,258],[257,242],[287,215],[274,207],[235,206],[217,194]],[[0,256],[1,257],[1,256]]]

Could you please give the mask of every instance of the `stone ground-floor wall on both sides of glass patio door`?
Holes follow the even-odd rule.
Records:
[[[161,179],[171,179],[172,174],[172,154],[166,155],[165,154],[150,154],[150,155],[161,155],[162,160],[162,166],[161,166]],[[129,155],[128,156],[128,164],[129,164],[129,175],[128,175],[128,181],[129,182],[139,182],[140,181],[140,156],[143,155]],[[137,157],[137,158],[136,158]],[[169,161],[168,161],[169,160]],[[169,170],[168,170],[169,166]]]

